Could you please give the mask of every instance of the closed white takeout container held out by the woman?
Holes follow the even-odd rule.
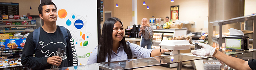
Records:
[[[187,50],[192,44],[187,40],[162,40],[159,44],[162,49],[168,50]]]

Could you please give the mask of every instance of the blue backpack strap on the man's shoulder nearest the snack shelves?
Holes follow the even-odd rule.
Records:
[[[40,37],[40,28],[37,28],[33,31],[33,41],[34,41],[34,53],[35,53],[35,50],[37,48],[37,45],[38,45],[38,42],[39,42],[39,37]]]

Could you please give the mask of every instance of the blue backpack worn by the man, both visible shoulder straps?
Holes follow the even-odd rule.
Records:
[[[68,32],[67,32],[67,29],[63,26],[59,26],[60,27],[60,30],[61,30],[61,33],[63,35],[63,37],[66,39],[66,42],[68,42]],[[34,41],[34,50],[36,50],[37,48],[37,45],[38,45],[38,42],[39,42],[39,37],[40,37],[40,28],[37,28],[33,31],[33,41]],[[35,51],[34,51],[35,53]]]

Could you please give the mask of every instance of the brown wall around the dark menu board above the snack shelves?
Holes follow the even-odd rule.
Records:
[[[30,15],[39,15],[38,6],[40,5],[40,0],[0,0],[0,2],[19,3],[20,16],[27,15],[27,13]]]

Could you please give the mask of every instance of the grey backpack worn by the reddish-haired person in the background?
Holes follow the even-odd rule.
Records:
[[[153,38],[153,34],[154,34],[154,31],[153,31],[153,27],[149,27],[149,26],[146,26],[145,27],[145,33],[142,35],[146,40],[150,40]]]

